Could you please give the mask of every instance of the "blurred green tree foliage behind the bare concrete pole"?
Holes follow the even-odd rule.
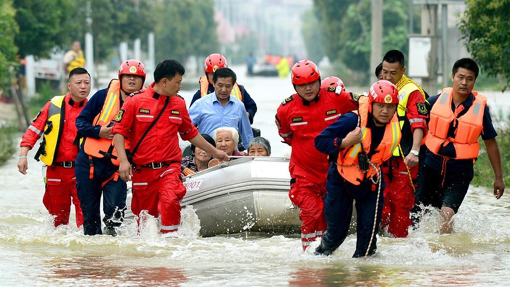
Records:
[[[324,54],[333,61],[341,61],[353,71],[366,73],[371,70],[371,1],[314,0],[314,4],[325,33],[322,37]],[[404,55],[409,51],[407,11],[407,1],[384,1],[383,51],[397,49]]]

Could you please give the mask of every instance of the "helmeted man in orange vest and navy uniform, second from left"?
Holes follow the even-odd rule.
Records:
[[[138,60],[122,62],[119,77],[98,90],[76,119],[83,141],[76,160],[78,197],[82,202],[85,235],[109,234],[124,218],[126,183],[118,176],[118,160],[112,145],[113,121],[124,101],[143,88],[145,67]],[[105,229],[101,232],[99,204],[103,195]]]

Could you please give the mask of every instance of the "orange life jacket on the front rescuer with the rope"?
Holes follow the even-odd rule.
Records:
[[[373,176],[377,175],[377,169],[379,169],[378,166],[392,156],[393,151],[398,147],[398,143],[400,142],[402,135],[400,125],[398,123],[398,115],[395,112],[390,123],[386,125],[384,136],[382,137],[379,146],[377,146],[376,151],[372,153],[369,158],[370,162],[376,165],[376,168],[370,164],[366,173],[361,172],[359,169],[358,154],[362,151],[362,144],[367,155],[369,154],[370,143],[372,142],[372,132],[370,128],[367,128],[368,109],[370,105],[368,97],[360,97],[359,104],[360,107],[357,113],[361,117],[360,127],[363,133],[362,142],[340,151],[337,159],[337,169],[339,174],[345,180],[354,185],[360,185],[362,181],[371,179]]]

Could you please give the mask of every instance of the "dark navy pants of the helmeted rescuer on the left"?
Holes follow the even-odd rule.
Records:
[[[76,158],[76,189],[78,198],[82,203],[83,233],[85,235],[103,234],[101,231],[100,200],[103,195],[103,221],[108,227],[120,226],[124,219],[126,209],[126,182],[120,179],[109,180],[101,187],[117,170],[118,166],[111,163],[110,159],[93,158],[94,176],[90,178],[90,165],[88,155],[80,149]]]

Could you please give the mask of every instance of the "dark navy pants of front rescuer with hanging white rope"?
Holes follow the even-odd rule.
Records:
[[[382,206],[384,205],[384,182],[381,180],[381,190],[379,193],[379,203],[377,208],[377,220],[375,232],[372,237],[369,255],[375,253],[376,234],[379,230],[381,221]],[[324,213],[327,222],[327,231],[322,236],[321,246],[318,253],[330,254],[335,251],[347,237],[350,220],[352,217],[352,204],[355,201],[356,213],[358,214],[356,226],[356,251],[352,257],[365,256],[370,244],[372,235],[375,204],[377,201],[377,189],[372,190],[372,183],[355,186],[345,181],[337,172],[336,166],[329,169],[326,197],[324,198]],[[378,187],[378,186],[375,186]],[[322,250],[320,250],[322,249]]]

